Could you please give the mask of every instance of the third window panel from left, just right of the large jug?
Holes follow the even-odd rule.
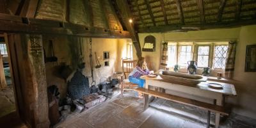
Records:
[[[210,46],[198,46],[197,66],[208,67]]]

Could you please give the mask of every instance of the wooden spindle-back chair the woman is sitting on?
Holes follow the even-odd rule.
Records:
[[[124,72],[124,78],[121,83],[121,95],[123,95],[124,90],[134,90],[138,87],[138,84],[131,83],[128,79],[129,74],[132,72],[133,68],[136,66],[136,60],[122,60],[122,70]]]

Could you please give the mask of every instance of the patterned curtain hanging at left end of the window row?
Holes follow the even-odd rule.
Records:
[[[162,44],[160,69],[166,70],[168,63],[168,42]]]

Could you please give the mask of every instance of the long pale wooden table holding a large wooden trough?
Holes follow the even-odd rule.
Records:
[[[206,99],[216,100],[213,104],[223,106],[225,104],[225,96],[237,95],[236,88],[234,84],[220,83],[216,81],[206,81],[197,84],[196,86],[185,86],[181,84],[173,84],[165,82],[160,76],[156,78],[150,78],[147,76],[141,76],[141,79],[145,79],[145,88],[148,86],[155,86],[159,88],[164,88],[166,90],[173,90],[176,92],[182,92],[189,95],[194,95],[198,97],[204,97]],[[223,86],[222,90],[216,90],[208,87],[208,83],[218,83]],[[148,99],[148,97],[145,97]],[[148,102],[147,102],[148,104]],[[220,125],[220,113],[216,113],[215,127]]]

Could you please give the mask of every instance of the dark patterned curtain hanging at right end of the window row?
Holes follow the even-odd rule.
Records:
[[[232,79],[234,76],[235,58],[236,58],[236,41],[228,42],[227,61],[225,66],[224,77]]]

